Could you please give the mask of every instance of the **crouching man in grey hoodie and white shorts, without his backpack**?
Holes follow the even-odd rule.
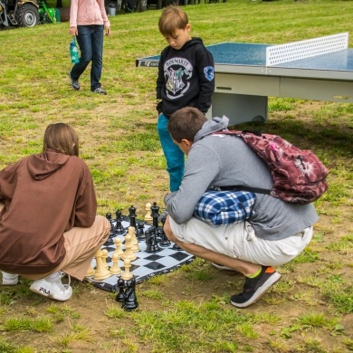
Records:
[[[164,230],[186,252],[242,273],[243,292],[234,294],[231,303],[244,308],[280,279],[272,266],[290,262],[310,243],[319,217],[312,204],[255,194],[246,220],[215,225],[196,218],[196,204],[206,190],[234,185],[272,188],[268,168],[241,138],[213,135],[227,125],[226,117],[207,120],[194,108],[177,110],[170,117],[169,133],[187,159],[181,186],[165,197]]]

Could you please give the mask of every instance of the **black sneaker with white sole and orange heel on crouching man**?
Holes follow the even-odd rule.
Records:
[[[271,266],[262,266],[261,273],[254,277],[246,277],[243,285],[243,293],[231,297],[231,304],[237,308],[246,308],[257,301],[272,284],[281,278],[281,274],[275,272]]]

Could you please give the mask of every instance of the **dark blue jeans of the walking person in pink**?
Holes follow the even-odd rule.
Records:
[[[80,46],[80,62],[75,63],[70,75],[72,80],[79,81],[88,64],[91,66],[91,91],[100,87],[102,57],[103,57],[103,24],[78,25],[77,43]]]

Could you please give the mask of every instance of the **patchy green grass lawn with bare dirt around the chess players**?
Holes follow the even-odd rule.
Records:
[[[192,36],[205,44],[287,43],[349,32],[353,1],[228,0],[185,9]],[[168,177],[156,131],[157,70],[135,66],[167,45],[159,15],[110,17],[101,80],[107,96],[91,93],[89,71],[81,91],[72,90],[68,23],[0,31],[0,167],[41,151],[46,126],[66,122],[81,138],[100,215],[134,205],[141,218],[148,202],[163,210]],[[353,351],[353,104],[270,97],[265,123],[238,128],[254,125],[312,149],[329,167],[310,246],[277,269],[281,281],[261,301],[235,309],[229,299],[242,289],[242,276],[200,259],[139,284],[134,312],[88,283],[74,282],[72,299],[58,303],[22,279],[0,288],[0,352]]]

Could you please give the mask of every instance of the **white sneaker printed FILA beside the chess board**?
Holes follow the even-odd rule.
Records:
[[[69,276],[69,283],[62,284],[62,275],[58,273],[55,278],[48,276],[41,280],[33,281],[30,290],[56,301],[68,301],[72,297],[70,281],[71,278]]]

